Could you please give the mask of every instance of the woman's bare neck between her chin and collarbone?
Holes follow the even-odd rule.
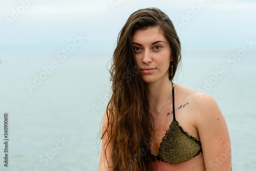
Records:
[[[172,91],[172,82],[170,82],[169,78],[166,77],[166,79],[147,83],[146,89],[147,98],[151,105],[151,111],[159,113]],[[170,99],[172,98],[169,98],[169,100]]]

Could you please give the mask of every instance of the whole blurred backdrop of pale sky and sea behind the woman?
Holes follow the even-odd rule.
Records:
[[[98,170],[111,56],[126,19],[146,7],[181,39],[174,81],[218,102],[233,169],[256,169],[255,1],[21,0],[0,1],[0,170]]]

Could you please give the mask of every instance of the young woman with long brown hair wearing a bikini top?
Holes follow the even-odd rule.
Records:
[[[217,102],[172,81],[180,58],[164,12],[140,9],[127,19],[110,70],[99,170],[232,170]]]

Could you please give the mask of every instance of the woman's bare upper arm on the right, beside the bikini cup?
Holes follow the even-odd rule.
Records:
[[[231,169],[231,145],[225,118],[213,97],[200,94],[196,126],[206,170]]]

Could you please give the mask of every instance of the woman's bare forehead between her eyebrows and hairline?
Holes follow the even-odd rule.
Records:
[[[157,40],[167,41],[159,27],[136,30],[132,36],[133,42],[151,42]]]

